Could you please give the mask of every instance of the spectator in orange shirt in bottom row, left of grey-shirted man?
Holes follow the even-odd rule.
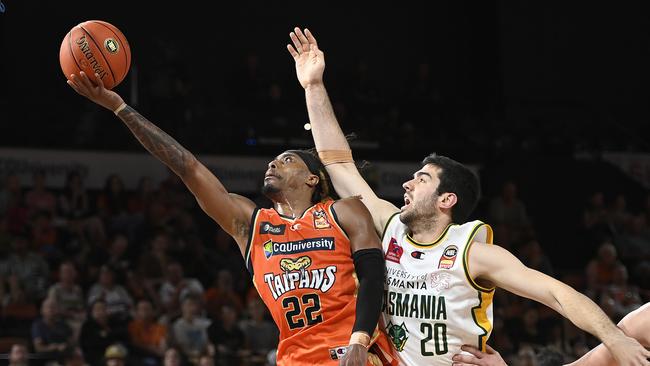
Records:
[[[156,320],[149,300],[140,300],[129,323],[129,339],[146,364],[158,364],[167,349],[167,327]]]

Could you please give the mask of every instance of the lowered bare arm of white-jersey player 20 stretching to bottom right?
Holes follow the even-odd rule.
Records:
[[[469,271],[474,279],[488,281],[554,309],[580,329],[598,337],[620,365],[647,365],[645,358],[650,357],[650,352],[627,337],[593,301],[570,286],[526,267],[507,250],[474,243]]]

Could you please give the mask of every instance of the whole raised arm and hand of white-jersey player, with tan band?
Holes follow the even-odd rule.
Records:
[[[318,48],[318,43],[313,34],[307,29],[303,33],[300,28],[295,28],[290,33],[292,45],[287,49],[296,62],[296,74],[300,85],[305,89],[307,112],[312,125],[314,143],[319,153],[326,151],[350,151],[343,131],[339,127],[334,109],[330,103],[323,72],[325,58]],[[295,48],[294,48],[295,47]],[[363,179],[352,159],[346,162],[327,164],[329,173],[336,192],[341,197],[361,196],[362,202],[373,213],[373,222],[377,232],[384,229],[386,221],[399,209],[388,201],[379,199],[372,188]]]

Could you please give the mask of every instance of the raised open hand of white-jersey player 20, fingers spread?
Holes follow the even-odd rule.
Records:
[[[323,83],[323,72],[325,71],[325,55],[318,48],[316,38],[309,29],[301,31],[294,28],[289,33],[293,46],[288,44],[287,49],[294,61],[296,61],[296,75],[303,88]]]

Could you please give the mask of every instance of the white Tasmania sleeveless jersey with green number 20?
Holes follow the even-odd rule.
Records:
[[[485,350],[494,289],[469,276],[473,240],[492,243],[480,222],[449,225],[433,243],[417,243],[395,214],[382,236],[386,284],[381,326],[402,365],[451,365],[460,346]],[[462,352],[464,353],[464,352]]]

